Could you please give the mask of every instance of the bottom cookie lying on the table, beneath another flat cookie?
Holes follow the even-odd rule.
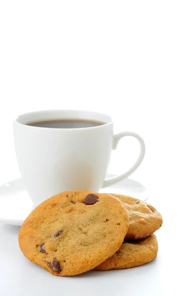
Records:
[[[95,270],[123,269],[143,265],[157,257],[158,243],[155,234],[141,240],[125,240],[120,249],[98,265]]]

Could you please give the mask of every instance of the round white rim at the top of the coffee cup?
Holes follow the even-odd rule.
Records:
[[[85,113],[85,114],[91,114],[91,115],[95,115],[95,116],[100,116],[100,117],[105,117],[107,118],[106,121],[108,122],[104,122],[104,120],[100,120],[101,122],[104,122],[104,124],[102,125],[98,125],[98,126],[91,126],[91,127],[82,127],[82,128],[52,128],[52,127],[39,127],[39,126],[32,126],[32,125],[27,125],[27,122],[28,120],[24,120],[27,116],[31,116],[31,115],[40,115],[40,114],[44,114],[45,113],[45,116],[46,114],[52,114],[52,113],[57,113],[57,112],[60,112],[63,114],[63,112],[66,112],[66,113]],[[55,116],[56,117],[56,116]],[[64,117],[66,118],[66,116]],[[64,119],[63,117],[57,117],[56,119]],[[75,118],[75,117],[68,117],[68,118],[72,118],[72,119],[86,119],[86,120],[93,120],[93,118],[84,118],[83,116],[79,117],[79,118]],[[19,122],[18,120],[21,119],[21,121],[23,120],[24,122]],[[48,120],[52,120],[54,118],[48,118]],[[47,120],[47,119],[42,119],[43,121],[44,120]],[[97,119],[96,119],[97,120]],[[41,119],[38,119],[37,121],[41,121]],[[29,122],[33,122],[33,120],[29,120]],[[34,120],[34,122],[36,122],[36,120]],[[26,128],[33,128],[33,129],[41,129],[41,130],[62,130],[62,131],[73,131],[73,130],[89,130],[89,129],[97,129],[97,128],[103,128],[105,126],[108,126],[109,124],[112,124],[113,123],[113,120],[111,118],[111,116],[107,115],[107,114],[104,114],[104,113],[100,113],[100,112],[96,112],[96,111],[86,111],[86,110],[74,110],[74,109],[51,109],[51,110],[40,110],[40,111],[31,111],[31,112],[26,112],[26,113],[22,113],[20,115],[17,116],[17,118],[13,121],[13,123],[17,124],[17,125],[21,125],[21,126],[24,126]]]

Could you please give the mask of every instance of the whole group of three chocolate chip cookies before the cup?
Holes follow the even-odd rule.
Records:
[[[65,191],[41,203],[19,232],[25,257],[57,276],[122,269],[157,257],[155,208],[138,199]]]

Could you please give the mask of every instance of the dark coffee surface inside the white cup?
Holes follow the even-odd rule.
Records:
[[[103,124],[105,123],[85,119],[56,119],[26,123],[26,125],[49,128],[84,128],[99,126]]]

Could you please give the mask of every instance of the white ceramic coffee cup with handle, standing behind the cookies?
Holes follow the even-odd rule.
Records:
[[[71,129],[27,125],[55,119],[86,119],[104,124]],[[13,122],[16,157],[24,184],[36,206],[65,190],[98,192],[127,178],[138,168],[145,154],[143,139],[132,132],[114,135],[113,125],[110,116],[91,111],[36,111],[18,116]],[[127,172],[105,180],[111,150],[126,136],[139,141],[139,157]]]

